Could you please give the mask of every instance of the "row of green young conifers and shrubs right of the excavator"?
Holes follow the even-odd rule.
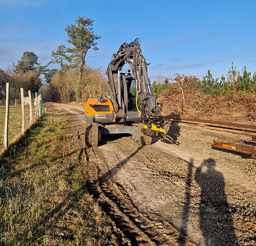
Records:
[[[174,79],[162,79],[153,81],[151,84],[152,93],[160,95],[165,90],[199,90],[210,96],[232,96],[254,94],[256,91],[256,72],[253,74],[243,68],[243,72],[237,71],[237,68],[231,65],[228,74],[221,78],[213,78],[210,70],[207,75],[200,80],[196,76],[186,76],[184,74],[174,74]]]

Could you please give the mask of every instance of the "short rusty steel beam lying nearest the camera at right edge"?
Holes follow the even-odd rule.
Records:
[[[247,155],[251,155],[251,158],[256,159],[256,146],[249,147],[240,144],[233,144],[233,143],[225,143],[221,141],[213,141],[214,144],[211,147],[235,151],[238,153],[245,153]]]

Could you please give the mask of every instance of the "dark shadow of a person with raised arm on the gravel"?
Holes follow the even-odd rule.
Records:
[[[195,181],[201,186],[200,228],[205,245],[239,245],[233,228],[225,181],[215,170],[214,159],[204,160],[196,168]]]

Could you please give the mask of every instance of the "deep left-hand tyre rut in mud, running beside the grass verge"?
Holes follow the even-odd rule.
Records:
[[[139,245],[140,243],[155,245],[155,243],[119,209],[123,204],[112,195],[113,183],[107,179],[108,169],[104,164],[105,160],[100,155],[99,151],[94,151],[96,149],[97,148],[85,149],[89,175],[88,188],[90,193],[100,204],[104,212],[115,222],[115,225],[130,240],[130,242],[127,243],[128,245],[130,243],[132,245]],[[131,213],[136,212],[133,207],[127,207],[126,209]]]

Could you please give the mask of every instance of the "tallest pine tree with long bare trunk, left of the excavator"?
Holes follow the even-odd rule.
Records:
[[[80,83],[83,71],[85,68],[85,57],[89,49],[98,50],[96,40],[100,39],[100,36],[93,34],[93,21],[90,18],[78,17],[76,19],[76,25],[68,25],[65,28],[69,36],[68,43],[71,43],[74,47],[68,48],[67,51],[71,53],[69,59],[71,63],[76,64],[79,67],[79,85],[78,85],[78,99],[81,97]]]

